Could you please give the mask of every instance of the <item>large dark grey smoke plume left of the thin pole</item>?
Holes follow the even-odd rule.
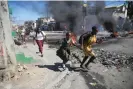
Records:
[[[77,19],[82,18],[81,1],[50,1],[49,10],[55,20],[65,22],[70,31],[76,30]]]

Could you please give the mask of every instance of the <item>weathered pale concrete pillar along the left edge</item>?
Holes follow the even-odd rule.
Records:
[[[0,81],[6,81],[14,76],[16,67],[7,1],[0,1],[0,23]]]

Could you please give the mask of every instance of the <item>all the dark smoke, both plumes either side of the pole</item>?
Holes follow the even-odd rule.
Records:
[[[91,5],[92,2],[87,2]],[[76,33],[80,32],[81,27],[85,25],[85,30],[91,30],[94,25],[103,25],[106,30],[112,32],[115,25],[111,13],[104,12],[105,2],[96,1],[93,2],[94,6],[87,6],[87,16],[83,20],[81,1],[60,1],[49,2],[49,10],[55,20],[58,22],[66,22],[69,26],[69,30]],[[89,9],[88,9],[89,8]],[[93,14],[90,12],[93,11]],[[108,26],[109,24],[109,26]],[[112,25],[112,26],[111,26]]]

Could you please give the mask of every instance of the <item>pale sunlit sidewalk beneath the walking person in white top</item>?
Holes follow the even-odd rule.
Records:
[[[47,44],[44,44],[43,48],[44,57],[42,58],[36,54],[37,45],[29,43],[27,48],[16,47],[16,53],[23,52],[25,56],[33,57],[37,62],[26,64],[28,70],[15,80],[11,89],[52,89],[53,85],[66,76],[67,70],[63,72],[58,70],[58,65],[62,61],[56,56],[57,49],[48,48]]]

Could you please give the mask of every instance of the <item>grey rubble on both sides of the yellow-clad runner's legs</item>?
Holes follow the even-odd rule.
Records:
[[[79,49],[72,49],[72,56],[74,63],[79,63],[83,57],[83,51]],[[108,52],[103,49],[94,49],[96,53],[95,63],[101,63],[106,67],[130,67],[133,70],[133,56],[128,56],[124,53]]]

